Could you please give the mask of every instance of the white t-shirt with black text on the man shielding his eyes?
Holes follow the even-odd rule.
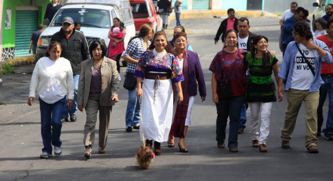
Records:
[[[306,48],[303,44],[298,44],[300,50],[303,52],[306,59],[310,62],[315,70],[315,58],[313,50]],[[298,89],[298,90],[308,90],[313,82],[313,74],[311,69],[309,68],[308,64],[304,60],[303,56],[299,51],[295,56],[295,64],[292,69],[293,74],[291,77],[291,85],[290,88]]]

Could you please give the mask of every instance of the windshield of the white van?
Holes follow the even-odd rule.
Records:
[[[60,9],[51,22],[51,27],[62,26],[63,18],[72,17],[81,27],[110,28],[110,14],[106,10],[73,8]]]

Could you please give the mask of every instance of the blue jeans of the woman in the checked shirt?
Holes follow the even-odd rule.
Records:
[[[139,98],[136,96],[137,87],[131,91],[128,91],[128,102],[126,109],[126,127],[133,127],[136,124],[139,124],[140,120],[140,102]]]

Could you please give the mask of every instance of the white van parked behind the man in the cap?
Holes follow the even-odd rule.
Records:
[[[60,31],[64,17],[72,17],[74,22],[81,23],[80,31],[85,35],[88,45],[92,40],[107,38],[113,19],[119,18],[126,27],[125,48],[128,41],[135,36],[135,26],[131,6],[128,0],[68,0],[54,15],[49,27],[39,37],[36,50],[37,59],[45,56],[45,51],[52,35]]]

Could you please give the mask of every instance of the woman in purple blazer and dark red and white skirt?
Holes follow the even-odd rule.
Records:
[[[174,147],[175,137],[179,137],[179,150],[180,152],[187,153],[188,149],[186,149],[185,146],[185,135],[188,125],[191,124],[191,111],[194,97],[197,95],[197,88],[199,88],[201,100],[206,100],[206,84],[198,54],[186,48],[186,33],[175,33],[173,43],[177,51],[180,68],[183,70],[184,75],[184,80],[181,82],[184,99],[182,103],[177,104],[174,123],[169,133],[168,146]]]

